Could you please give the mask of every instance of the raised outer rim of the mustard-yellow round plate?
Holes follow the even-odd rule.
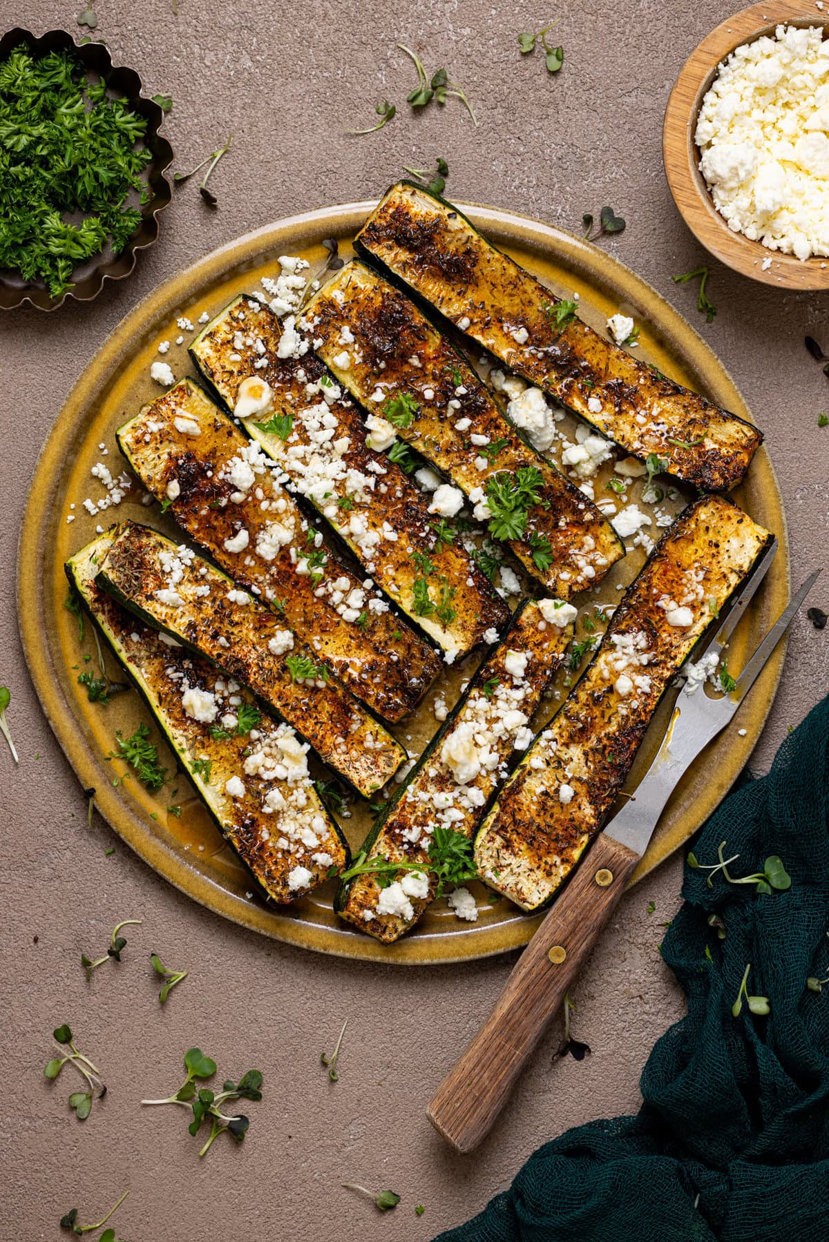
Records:
[[[58,428],[66,424],[75,427],[75,420],[88,410],[96,395],[106,386],[112,370],[118,366],[122,351],[129,347],[131,340],[139,332],[147,332],[147,325],[153,320],[153,317],[181,304],[183,298],[186,299],[186,304],[191,303],[201,293],[209,291],[211,283],[229,268],[242,270],[245,261],[254,256],[261,258],[266,253],[278,253],[280,240],[287,235],[292,235],[295,246],[307,245],[314,238],[318,240],[319,226],[323,221],[333,232],[339,230],[342,233],[353,235],[358,225],[364,221],[365,215],[373,210],[375,202],[377,200],[370,199],[337,204],[331,207],[316,207],[311,211],[286,216],[225,242],[183,271],[173,273],[168,279],[150,289],[104,338],[72,385],[48,431],[32,472],[20,527],[15,597],[24,658],[35,692],[58,745],[85,790],[99,781],[99,774],[94,770],[92,754],[87,751],[77,733],[67,728],[66,720],[61,720],[61,705],[63,705],[66,715],[70,704],[61,692],[57,678],[51,674],[52,650],[45,637],[44,627],[39,625],[48,590],[47,575],[39,573],[40,568],[46,564],[45,558],[48,556],[44,546],[46,523],[42,520],[39,508],[39,496],[42,496],[44,491],[39,484],[41,478],[50,477],[56,460],[65,455],[65,443],[61,442]],[[534,247],[539,252],[549,253],[552,248],[558,262],[568,265],[572,262],[575,268],[582,267],[598,286],[609,286],[614,279],[618,281],[620,273],[624,273],[625,298],[636,302],[654,333],[661,339],[670,340],[681,353],[685,365],[691,366],[691,369],[694,369],[694,356],[701,351],[702,363],[710,376],[708,385],[713,383],[713,376],[716,376],[716,385],[733,395],[731,405],[732,407],[737,406],[736,412],[751,417],[742,392],[711,347],[675,307],[624,262],[583,238],[532,216],[461,200],[457,201],[457,206],[470,215],[476,226],[482,229],[486,229],[487,225],[493,226],[500,233],[501,242],[506,233],[524,250],[532,251]],[[300,242],[297,236],[300,232],[307,235],[307,241]],[[654,310],[657,312],[656,315]],[[783,558],[784,574],[782,582],[778,584],[778,590],[788,592],[789,559],[785,510],[771,458],[762,447],[759,455],[762,455],[759,463],[762,463],[773,487],[773,503],[781,522],[781,529],[776,533],[781,544],[779,554]],[[753,737],[746,739],[748,741],[748,746],[744,748],[746,761],[771,712],[783,671],[784,656],[785,642],[777,648],[776,656],[762,674],[766,710],[756,718],[758,723],[752,729]],[[738,766],[726,780],[720,779],[716,789],[717,802],[737,779],[740,770]],[[180,847],[174,847],[172,837],[169,841],[164,840],[158,827],[154,832],[149,832],[143,822],[140,810],[132,807],[108,782],[98,787],[94,805],[112,830],[157,874],[214,914],[271,939],[326,953],[331,956],[384,961],[389,965],[445,965],[480,960],[522,948],[544,917],[543,913],[523,915],[516,912],[515,918],[495,927],[487,928],[476,924],[452,927],[452,933],[449,936],[440,932],[433,934],[420,932],[415,936],[403,938],[394,946],[382,945],[370,936],[347,929],[341,920],[336,919],[336,915],[333,925],[323,927],[295,918],[296,907],[275,910],[245,900],[199,869],[191,856],[183,857]],[[649,874],[691,835],[681,833],[677,840],[666,841],[660,856],[651,859],[650,863],[645,856],[640,867],[636,868],[631,883]]]

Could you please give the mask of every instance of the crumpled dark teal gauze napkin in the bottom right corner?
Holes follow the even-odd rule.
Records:
[[[436,1242],[829,1240],[828,743],[825,699],[771,773],[744,781],[702,828],[661,949],[687,1016],[648,1059],[639,1114],[547,1143]],[[732,878],[779,856],[790,888],[762,892],[721,871],[708,887],[702,867],[722,841],[726,858],[740,854]],[[747,991],[768,999],[767,1016],[744,994],[732,1012],[748,964]]]

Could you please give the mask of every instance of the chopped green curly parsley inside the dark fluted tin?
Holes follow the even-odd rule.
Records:
[[[147,195],[147,120],[67,51],[15,48],[0,63],[0,268],[53,298],[107,246],[119,255]]]

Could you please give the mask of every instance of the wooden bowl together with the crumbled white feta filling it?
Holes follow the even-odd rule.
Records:
[[[716,27],[665,111],[674,201],[716,258],[829,288],[829,0],[772,0]]]

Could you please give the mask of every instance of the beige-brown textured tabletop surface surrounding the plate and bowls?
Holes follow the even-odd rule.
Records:
[[[82,5],[77,5],[77,9]],[[89,830],[77,781],[35,700],[20,652],[14,570],[29,479],[70,386],[104,335],[159,281],[215,246],[268,220],[321,204],[369,197],[403,164],[444,155],[447,193],[538,215],[578,230],[582,214],[610,202],[628,220],[610,248],[685,310],[731,368],[779,473],[793,579],[827,561],[829,543],[829,381],[803,348],[804,332],[829,348],[825,298],[779,294],[712,265],[718,306],[706,325],[690,288],[670,276],[702,261],[674,210],[661,168],[661,116],[692,47],[730,4],[599,0],[564,4],[556,41],[564,70],[547,76],[541,55],[521,60],[520,30],[554,15],[492,0],[319,0],[287,7],[263,0],[99,0],[98,35],[116,62],[137,67],[149,93],[170,92],[165,122],[176,166],[221,145],[210,212],[181,188],[162,221],[162,241],[128,282],[91,306],[0,319],[0,682],[20,768],[0,746],[4,1092],[0,1105],[0,1240],[57,1238],[73,1203],[94,1220],[122,1190],[116,1222],[131,1242],[225,1237],[271,1242],[429,1238],[506,1186],[544,1139],[588,1118],[633,1110],[638,1077],[659,1035],[681,1013],[661,964],[660,923],[679,902],[675,859],[624,900],[578,986],[575,1031],[593,1046],[577,1064],[553,1064],[549,1032],[488,1143],[451,1158],[424,1104],[488,1011],[510,969],[495,960],[461,969],[390,970],[311,956],[270,944],[205,913],[157,879],[98,818]],[[809,11],[804,5],[804,11]],[[0,5],[0,27],[75,29],[76,6],[30,0]],[[480,117],[460,106],[411,116],[403,103],[409,42],[433,67],[446,65]],[[398,118],[370,138],[343,124],[373,119],[378,99]],[[50,498],[42,497],[44,507]],[[829,579],[814,602],[829,607]],[[829,689],[829,631],[797,622],[785,674],[754,766],[767,766],[787,725]],[[112,856],[104,851],[116,845]],[[649,900],[656,903],[646,913]],[[124,960],[87,987],[81,949],[106,944],[121,918],[133,928]],[[37,943],[34,939],[37,938]],[[160,1011],[147,954],[155,948],[190,977]],[[349,1028],[341,1082],[318,1054]],[[67,1078],[45,1082],[50,1032],[70,1021],[106,1073],[109,1093],[80,1125],[66,1109]],[[180,1057],[198,1043],[220,1076],[251,1066],[265,1099],[236,1148],[220,1140],[204,1160],[184,1112],[142,1110],[137,1100],[180,1082]],[[354,1179],[403,1195],[394,1213],[339,1189]],[[415,1205],[425,1205],[418,1218]],[[65,1235],[63,1235],[65,1236]]]

